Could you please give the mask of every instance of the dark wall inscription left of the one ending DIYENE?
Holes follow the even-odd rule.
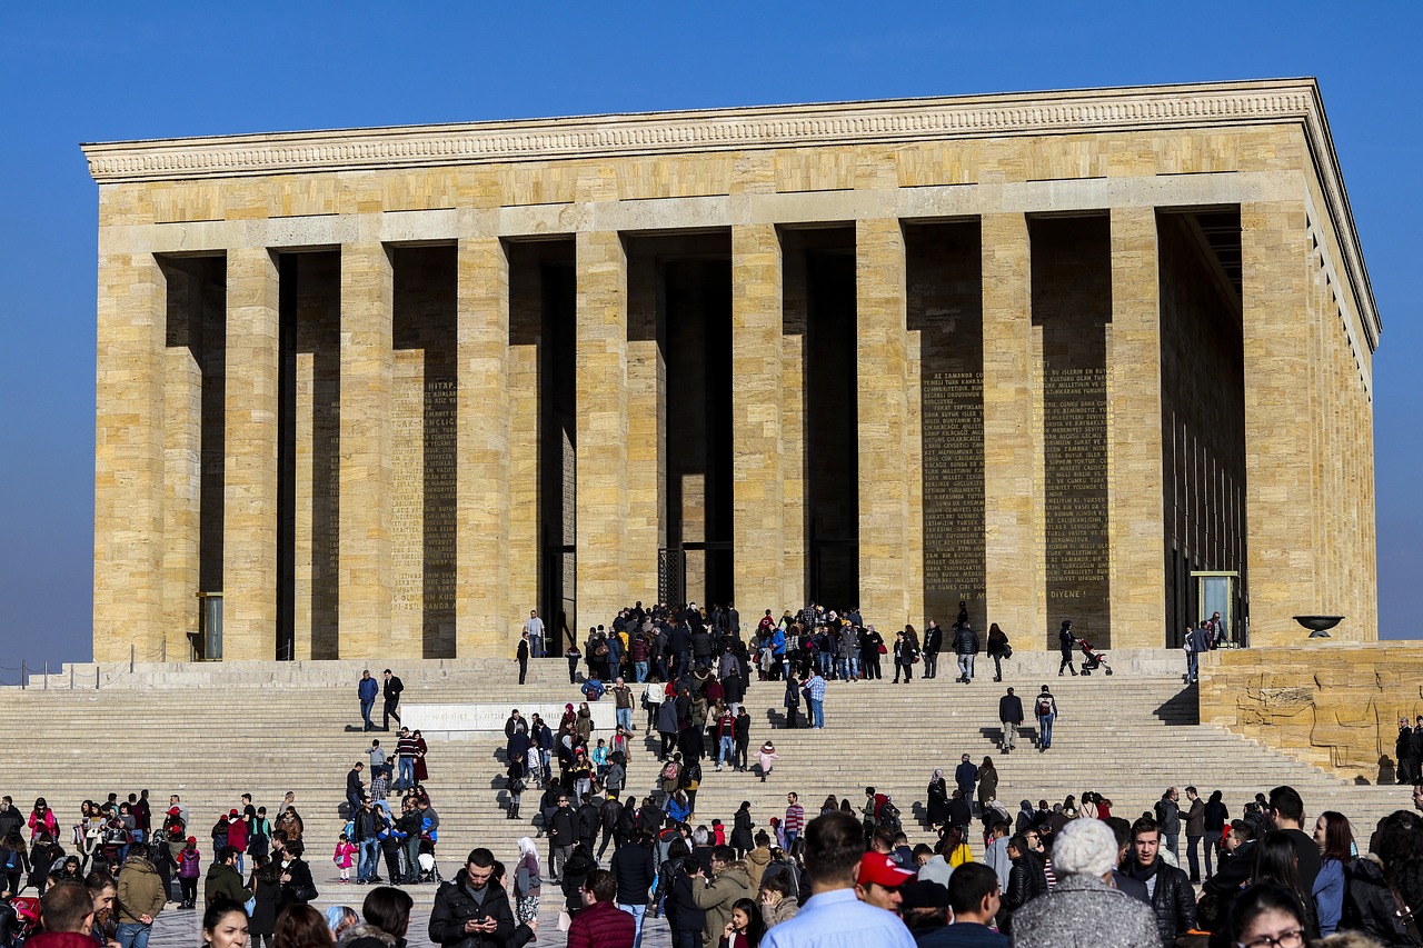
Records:
[[[970,615],[983,578],[983,373],[939,372],[921,389],[925,615]]]

